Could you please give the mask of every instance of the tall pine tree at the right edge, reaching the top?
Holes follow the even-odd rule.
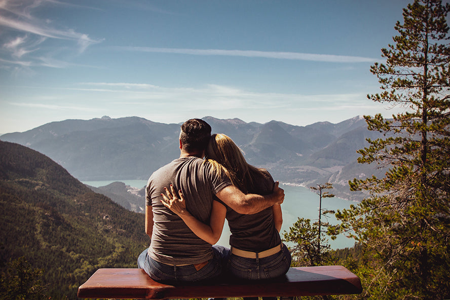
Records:
[[[409,4],[403,24],[395,25],[395,43],[382,49],[386,63],[370,69],[382,92],[368,98],[404,113],[365,117],[368,129],[384,136],[368,139],[358,161],[388,171],[351,181],[352,190],[368,197],[336,214],[341,229],[353,230],[365,246],[369,297],[373,287],[383,290],[372,293],[377,299],[450,298],[449,11],[440,0]]]

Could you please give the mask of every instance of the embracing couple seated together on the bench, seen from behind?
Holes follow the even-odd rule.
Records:
[[[180,157],[148,179],[145,232],[151,245],[138,267],[167,284],[286,274],[291,256],[279,235],[284,191],[278,182],[247,164],[228,136],[211,136],[203,120],[184,122],[179,142]],[[212,246],[225,218],[231,250]]]

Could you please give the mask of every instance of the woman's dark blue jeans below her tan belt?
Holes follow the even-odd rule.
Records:
[[[245,258],[231,254],[228,272],[239,279],[258,280],[283,276],[289,270],[291,255],[286,246],[283,250],[264,258]]]

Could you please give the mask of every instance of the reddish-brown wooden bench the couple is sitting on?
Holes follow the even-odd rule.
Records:
[[[358,294],[359,278],[342,266],[290,268],[286,276],[253,282],[167,285],[140,269],[99,269],[78,289],[79,298],[168,299]]]

